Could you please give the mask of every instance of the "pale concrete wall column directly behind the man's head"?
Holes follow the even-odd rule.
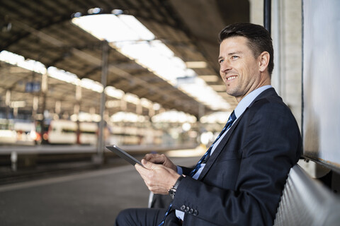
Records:
[[[251,23],[263,25],[263,0],[249,2]],[[272,0],[271,8],[275,64],[272,84],[301,126],[302,3]]]

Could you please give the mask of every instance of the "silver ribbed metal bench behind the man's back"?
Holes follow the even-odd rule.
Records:
[[[274,226],[340,225],[340,199],[299,166],[290,169]]]

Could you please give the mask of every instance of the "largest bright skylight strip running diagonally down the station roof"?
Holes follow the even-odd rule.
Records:
[[[205,61],[184,62],[176,57],[166,44],[161,40],[155,40],[154,34],[134,16],[101,14],[73,18],[72,22],[100,40],[111,42],[111,46],[120,53],[194,97],[198,102],[212,109],[229,108],[229,103],[192,70],[207,67]],[[178,78],[188,77],[195,79],[191,79],[190,83],[185,81],[178,83]]]

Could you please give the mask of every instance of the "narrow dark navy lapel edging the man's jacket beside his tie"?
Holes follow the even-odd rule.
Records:
[[[253,102],[251,102],[251,104],[249,105],[249,107],[251,107],[251,105],[254,104],[254,102],[267,97],[267,96],[277,96],[276,91],[274,90],[274,88],[268,88],[267,90],[264,90],[262,93],[260,93],[260,95],[258,95]],[[207,174],[207,172],[209,171],[210,167],[214,164],[214,162],[216,161],[217,157],[220,155],[221,151],[223,150],[223,148],[225,147],[225,145],[227,144],[227,141],[229,141],[230,135],[232,134],[232,132],[234,131],[234,129],[237,128],[237,124],[239,124],[239,121],[242,120],[242,117],[244,115],[244,113],[246,112],[247,109],[249,109],[249,107],[246,107],[246,109],[244,110],[243,114],[234,122],[234,124],[232,125],[232,127],[230,127],[229,131],[227,132],[227,134],[225,134],[225,136],[222,138],[222,141],[220,141],[220,143],[217,145],[216,149],[214,150],[214,152],[212,153],[212,155],[209,157],[208,162],[206,163],[205,167],[203,168],[203,171],[200,173],[200,177],[198,177],[198,180],[203,179],[203,177],[205,177],[205,174]]]

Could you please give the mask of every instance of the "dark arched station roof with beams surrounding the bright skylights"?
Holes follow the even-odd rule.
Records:
[[[55,66],[79,78],[101,82],[102,41],[71,22],[74,13],[86,15],[89,8],[94,7],[101,8],[101,13],[123,10],[140,20],[183,61],[207,62],[208,66],[194,71],[229,102],[230,109],[235,107],[234,97],[218,88],[223,83],[218,73],[217,34],[229,23],[249,21],[247,0],[3,0],[0,3],[0,50],[40,61],[46,67]],[[23,84],[34,81],[34,73],[10,64],[1,63],[0,66],[1,96],[10,89],[12,98],[28,98],[26,101],[33,105],[32,95],[25,93]],[[214,76],[217,78],[212,79]],[[145,97],[165,109],[176,109],[196,117],[202,111],[193,97],[112,47],[108,55],[107,85]],[[46,109],[54,109],[54,103],[61,101],[63,108],[73,111],[74,87],[49,79],[48,89]],[[84,93],[81,102],[84,109],[81,110],[95,107],[98,112],[99,100],[99,94],[94,97]],[[205,114],[212,112],[210,107],[204,107]]]

